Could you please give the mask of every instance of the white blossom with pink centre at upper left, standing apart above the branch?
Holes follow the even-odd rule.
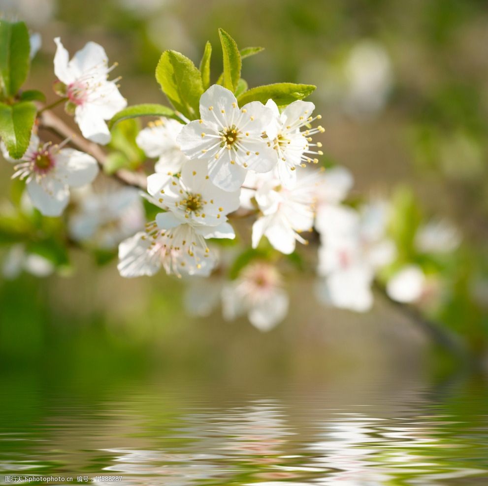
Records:
[[[75,122],[85,138],[108,143],[110,131],[105,120],[127,106],[116,80],[108,80],[116,64],[108,65],[105,50],[95,42],[88,42],[71,60],[60,38],[56,37],[54,42],[57,45],[54,72],[65,85],[67,106],[74,111]]]

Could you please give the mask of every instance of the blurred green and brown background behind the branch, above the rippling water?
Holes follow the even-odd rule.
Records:
[[[352,171],[353,199],[407,193],[426,220],[448,219],[460,230],[463,242],[448,274],[456,292],[436,316],[467,336],[476,353],[486,351],[486,2],[0,0],[0,11],[40,33],[26,88],[41,89],[48,102],[56,99],[55,36],[71,54],[89,40],[104,46],[119,63],[116,75],[129,104],[166,103],[154,79],[165,49],[197,64],[210,40],[216,76],[219,27],[240,47],[265,47],[244,60],[243,77],[250,86],[317,85],[311,100],[323,116],[325,160]],[[65,116],[61,107],[57,113]],[[2,194],[10,191],[10,174],[2,163]],[[7,373],[23,370],[34,381],[39,374],[67,381],[97,374],[105,383],[157,370],[229,382],[266,376],[315,383],[351,370],[363,382],[363,375],[375,380],[386,369],[408,379],[458,369],[381,296],[365,315],[329,309],[311,297],[313,282],[296,276],[288,318],[261,333],[244,318],[223,321],[219,310],[189,317],[176,279],[124,280],[113,260],[98,267],[79,250],[70,259],[61,275],[0,281],[0,360]]]

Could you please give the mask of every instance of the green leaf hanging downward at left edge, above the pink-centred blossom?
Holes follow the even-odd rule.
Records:
[[[13,159],[20,159],[27,150],[36,113],[32,101],[0,103],[0,137]]]

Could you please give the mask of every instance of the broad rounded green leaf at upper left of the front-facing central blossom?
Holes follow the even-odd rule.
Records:
[[[203,83],[190,59],[176,51],[164,51],[156,67],[156,80],[178,111],[190,120],[199,117]]]

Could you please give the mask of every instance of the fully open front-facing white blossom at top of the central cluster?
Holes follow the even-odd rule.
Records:
[[[200,120],[185,125],[177,137],[191,159],[208,164],[210,180],[224,191],[237,191],[247,170],[268,172],[276,164],[263,132],[273,113],[259,101],[239,108],[235,96],[219,85],[200,98]]]

